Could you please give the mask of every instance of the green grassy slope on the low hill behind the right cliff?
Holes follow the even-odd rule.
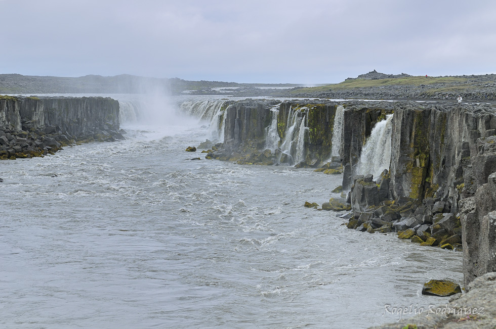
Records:
[[[405,78],[398,79],[377,79],[377,80],[365,80],[365,79],[353,79],[346,80],[340,83],[327,84],[324,86],[318,87],[310,87],[304,89],[294,90],[294,93],[298,92],[319,92],[319,91],[328,91],[332,90],[340,90],[340,89],[353,89],[353,88],[363,88],[363,87],[378,87],[385,85],[404,85],[404,86],[418,86],[421,84],[429,85],[429,84],[450,84],[450,83],[463,83],[466,82],[466,78],[456,78],[456,77],[430,77],[427,78],[425,76],[410,76]]]

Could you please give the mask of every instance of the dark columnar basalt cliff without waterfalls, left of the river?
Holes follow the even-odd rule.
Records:
[[[122,139],[119,103],[102,97],[0,96],[0,158],[31,158],[64,145]]]

